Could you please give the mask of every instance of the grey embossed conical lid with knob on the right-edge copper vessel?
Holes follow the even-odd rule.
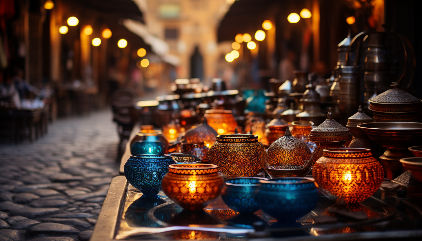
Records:
[[[400,89],[399,84],[397,82],[393,82],[391,86],[393,87],[392,89],[384,91],[376,97],[373,97],[371,100],[369,100],[369,102],[395,104],[422,102],[422,100],[419,100],[417,97],[414,97],[403,89]]]

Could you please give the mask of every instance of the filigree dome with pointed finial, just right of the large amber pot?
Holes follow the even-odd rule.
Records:
[[[267,151],[268,165],[303,165],[311,158],[311,151],[305,142],[292,136],[289,129],[283,137],[274,141]]]

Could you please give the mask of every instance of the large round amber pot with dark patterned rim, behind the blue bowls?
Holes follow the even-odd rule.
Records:
[[[255,176],[260,173],[265,149],[257,135],[217,135],[217,141],[208,151],[210,164],[218,166],[226,178]]]

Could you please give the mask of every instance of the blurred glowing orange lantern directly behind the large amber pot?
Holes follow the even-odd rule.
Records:
[[[219,109],[206,110],[204,116],[207,118],[208,125],[216,130],[219,135],[235,133],[237,122],[232,111]]]

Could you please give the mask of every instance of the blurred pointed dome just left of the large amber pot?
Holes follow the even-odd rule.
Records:
[[[206,147],[210,147],[216,141],[216,136],[217,131],[208,125],[207,118],[204,117],[202,124],[187,130],[183,138],[187,143],[203,142]]]

